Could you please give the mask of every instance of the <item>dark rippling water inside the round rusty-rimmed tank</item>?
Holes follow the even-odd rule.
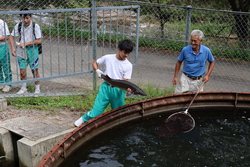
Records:
[[[188,133],[164,134],[165,118],[112,129],[79,148],[62,167],[247,167],[250,119],[195,118]]]

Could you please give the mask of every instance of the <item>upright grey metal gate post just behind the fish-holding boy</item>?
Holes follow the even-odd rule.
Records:
[[[93,48],[93,60],[96,60],[96,49],[97,49],[97,11],[96,11],[96,0],[92,0],[92,48]],[[93,71],[93,90],[96,90],[96,72]]]

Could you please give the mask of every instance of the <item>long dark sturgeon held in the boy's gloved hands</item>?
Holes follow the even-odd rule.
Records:
[[[101,75],[101,78],[110,84],[111,87],[118,87],[123,90],[128,90],[128,88],[131,89],[130,92],[128,92],[127,96],[130,96],[132,94],[134,95],[141,95],[141,96],[147,96],[147,94],[141,90],[137,85],[133,84],[132,82],[126,81],[126,80],[119,80],[119,79],[112,79],[108,75]]]

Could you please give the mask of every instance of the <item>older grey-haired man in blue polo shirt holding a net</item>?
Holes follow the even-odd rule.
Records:
[[[214,57],[210,49],[201,45],[204,34],[200,30],[191,32],[191,45],[185,46],[175,65],[174,78],[172,83],[176,85],[176,93],[196,92],[202,82],[208,82],[214,68]],[[184,66],[178,81],[178,73],[182,62]],[[206,62],[209,63],[206,72]],[[201,88],[203,91],[203,88]]]

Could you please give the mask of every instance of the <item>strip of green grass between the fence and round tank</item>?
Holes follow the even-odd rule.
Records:
[[[140,100],[145,100],[158,96],[173,94],[173,87],[160,89],[152,84],[148,84],[143,88],[148,96],[132,96],[125,98],[125,104],[130,104]],[[87,95],[70,95],[70,96],[54,96],[54,97],[8,97],[8,105],[12,105],[17,109],[35,109],[41,111],[60,111],[60,110],[79,110],[89,111],[92,109],[98,91],[90,92]],[[108,106],[106,111],[111,110]]]

